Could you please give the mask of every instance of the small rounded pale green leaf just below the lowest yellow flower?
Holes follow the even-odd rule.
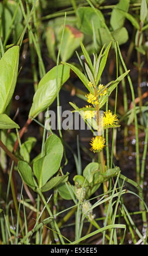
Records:
[[[87,178],[89,183],[91,183],[94,180],[94,174],[98,173],[98,171],[98,163],[89,163],[83,170],[83,176]]]

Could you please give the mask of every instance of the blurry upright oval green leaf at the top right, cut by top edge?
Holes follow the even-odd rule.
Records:
[[[112,10],[110,25],[112,26],[113,30],[123,27],[125,22],[125,16],[122,15],[116,8],[128,12],[129,2],[129,0],[120,0],[120,2],[116,4],[115,8]]]

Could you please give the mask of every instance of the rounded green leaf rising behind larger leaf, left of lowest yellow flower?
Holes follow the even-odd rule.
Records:
[[[63,144],[61,143],[60,138],[55,134],[49,136],[45,143],[45,155],[49,153],[56,153],[61,157],[63,155]]]

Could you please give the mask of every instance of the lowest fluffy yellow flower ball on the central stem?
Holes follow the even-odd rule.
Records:
[[[105,142],[106,140],[102,136],[96,136],[95,138],[92,138],[90,142],[90,145],[91,145],[90,150],[94,151],[94,153],[96,151],[100,152],[104,148]]]

